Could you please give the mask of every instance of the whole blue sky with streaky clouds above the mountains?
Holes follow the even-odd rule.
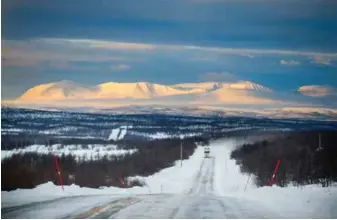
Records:
[[[337,87],[335,0],[3,0],[1,98],[72,80]]]

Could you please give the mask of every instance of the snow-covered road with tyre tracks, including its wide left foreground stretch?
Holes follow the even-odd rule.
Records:
[[[278,218],[250,201],[214,190],[216,157],[203,159],[191,187],[181,194],[81,196],[3,208],[2,218]],[[92,201],[97,201],[92,204]],[[81,205],[79,204],[79,201]],[[86,201],[88,205],[86,205]],[[59,209],[66,209],[58,214]],[[262,210],[262,211],[261,211]]]

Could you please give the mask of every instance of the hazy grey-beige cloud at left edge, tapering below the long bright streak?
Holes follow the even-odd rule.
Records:
[[[44,63],[141,61],[132,54],[103,53],[101,49],[73,48],[43,41],[2,40],[4,66],[38,66]]]

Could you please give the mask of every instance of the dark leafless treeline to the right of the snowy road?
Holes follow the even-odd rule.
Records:
[[[319,143],[320,142],[320,143]],[[275,184],[297,186],[337,182],[337,131],[284,133],[269,140],[244,144],[231,153],[241,171],[268,185],[278,160]]]

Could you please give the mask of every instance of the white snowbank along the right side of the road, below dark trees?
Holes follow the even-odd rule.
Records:
[[[267,208],[283,218],[336,218],[337,187],[307,185],[301,188],[257,188],[253,176],[249,179],[248,174],[240,172],[235,160],[230,160],[231,150],[242,143],[243,141],[226,140],[215,142],[211,147],[213,155],[221,155],[221,159],[217,158],[215,167],[215,190],[219,196],[253,201],[256,204],[253,208]]]

